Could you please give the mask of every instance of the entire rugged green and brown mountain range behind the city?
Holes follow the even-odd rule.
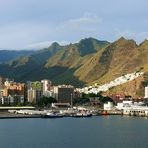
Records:
[[[21,82],[50,79],[54,84],[81,87],[104,84],[121,75],[143,71],[146,85],[148,40],[139,45],[124,37],[112,43],[94,38],[65,46],[54,42],[48,48],[16,56],[15,59],[0,58],[0,61],[0,75]]]

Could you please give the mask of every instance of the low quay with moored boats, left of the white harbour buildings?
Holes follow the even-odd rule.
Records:
[[[108,112],[107,115],[121,115],[121,112]],[[92,116],[105,115],[102,109],[90,109],[85,107],[73,108],[52,108],[52,109],[36,109],[36,108],[19,108],[19,107],[2,107],[0,108],[0,119],[11,118],[87,118]]]

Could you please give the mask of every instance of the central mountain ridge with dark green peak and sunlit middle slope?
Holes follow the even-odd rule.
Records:
[[[48,69],[48,71],[57,66],[65,69],[64,72],[59,72],[59,74],[53,78],[53,81],[56,83],[82,86],[86,83],[86,80],[80,80],[80,77],[75,75],[75,71],[82,67],[103,47],[108,45],[109,42],[106,41],[97,41],[93,38],[83,39],[79,43],[65,46],[49,58],[45,64],[45,68]]]

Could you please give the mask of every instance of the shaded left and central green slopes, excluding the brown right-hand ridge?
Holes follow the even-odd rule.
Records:
[[[75,71],[108,44],[107,41],[93,38],[67,46],[53,43],[49,48],[31,56],[19,57],[7,64],[1,64],[0,74],[17,81],[48,78],[55,83],[82,86],[86,82],[74,75]]]

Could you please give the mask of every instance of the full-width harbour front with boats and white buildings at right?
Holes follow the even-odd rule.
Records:
[[[148,107],[143,103],[123,101],[116,106],[112,102],[104,104],[104,108],[72,107],[72,108],[19,108],[2,107],[0,108],[0,119],[13,118],[87,118],[92,116],[137,116],[148,117]]]

